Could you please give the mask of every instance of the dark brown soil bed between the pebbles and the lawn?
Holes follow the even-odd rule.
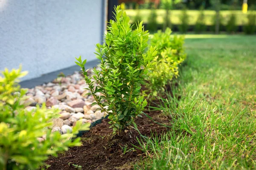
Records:
[[[160,116],[160,112],[147,112],[156,122],[169,124],[169,120]],[[151,133],[161,134],[166,127],[158,125],[148,119],[145,115],[136,119],[136,124],[143,136]],[[144,157],[144,153],[136,149],[139,146],[136,138],[140,139],[137,130],[131,128],[128,132],[122,132],[113,136],[109,128],[108,119],[104,119],[99,125],[93,127],[81,138],[82,146],[72,147],[67,152],[61,153],[57,158],[50,157],[45,163],[51,165],[49,170],[74,170],[72,164],[82,166],[83,170],[129,170],[133,169],[134,163]],[[121,147],[127,145],[129,152],[123,154]],[[68,165],[69,162],[70,166]]]

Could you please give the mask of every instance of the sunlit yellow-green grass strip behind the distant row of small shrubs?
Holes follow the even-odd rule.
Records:
[[[137,10],[134,9],[126,9],[125,10],[127,15],[131,17],[132,22],[134,22],[134,17],[137,14]],[[195,22],[198,18],[198,14],[200,11],[198,10],[188,10],[189,14],[189,25],[195,25]],[[227,23],[227,20],[229,20],[230,14],[235,13],[237,16],[237,25],[244,25],[247,23],[247,14],[243,14],[242,11],[236,10],[236,11],[221,11],[221,15],[224,17],[224,24]],[[148,22],[148,16],[149,16],[150,10],[149,9],[140,9],[140,16],[142,17],[143,21],[145,23]],[[180,14],[181,10],[172,10],[171,11],[171,20],[173,24],[180,24]],[[205,21],[207,25],[212,25],[212,17],[215,15],[215,11],[212,10],[206,10],[204,11],[205,14]],[[158,9],[157,10],[157,21],[158,23],[163,23],[165,17],[165,10],[164,9]]]

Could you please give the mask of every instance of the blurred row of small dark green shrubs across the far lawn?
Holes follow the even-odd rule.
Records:
[[[134,17],[134,21],[140,21],[141,16],[140,12],[137,12],[137,15]],[[202,33],[205,31],[215,32],[215,24],[212,26],[206,25],[206,19],[204,10],[201,9],[200,14],[198,15],[197,21],[194,26],[189,25],[189,15],[187,14],[186,9],[183,9],[182,14],[180,15],[180,25],[174,25],[167,18],[163,24],[157,23],[157,12],[152,9],[151,13],[148,16],[148,23],[145,25],[151,32],[155,32],[158,29],[165,29],[166,26],[173,28],[175,31],[181,33],[186,33],[187,31],[194,31],[195,33]],[[236,14],[230,14],[227,24],[223,22],[224,17],[219,16],[219,31],[227,31],[228,33],[236,33],[237,31],[244,31],[245,34],[254,34],[256,33],[256,13],[255,11],[249,11],[247,14],[247,23],[244,26],[237,25],[237,16]],[[212,18],[212,23],[216,23],[216,15]]]

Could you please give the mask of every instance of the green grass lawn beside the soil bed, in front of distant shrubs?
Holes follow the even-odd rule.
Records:
[[[256,169],[255,44],[256,36],[186,36],[176,97],[159,106],[172,128],[143,139],[136,169]]]

